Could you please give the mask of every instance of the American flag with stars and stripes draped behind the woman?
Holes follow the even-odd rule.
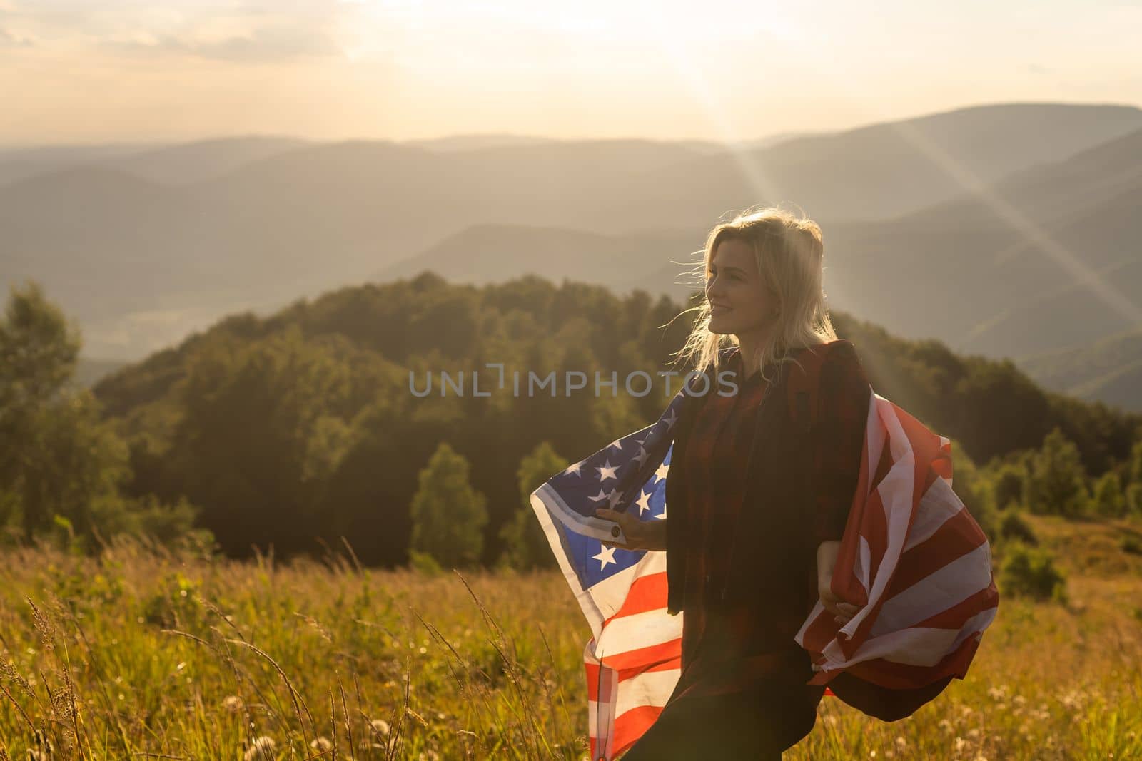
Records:
[[[689,394],[684,387],[658,422],[531,494],[592,631],[584,649],[592,759],[633,745],[681,674],[683,614],[666,609],[666,553],[604,547],[625,537],[594,511],[666,519],[674,427]],[[811,683],[841,671],[890,688],[962,678],[998,605],[990,545],[951,489],[950,442],[875,392],[831,585],[862,607],[838,626],[817,602],[795,637],[813,658]]]

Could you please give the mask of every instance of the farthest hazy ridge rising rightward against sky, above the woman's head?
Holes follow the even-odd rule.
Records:
[[[694,211],[706,219],[710,210],[748,205],[741,199],[788,201],[830,221],[877,219],[1140,128],[1142,111],[1133,106],[975,106],[661,167],[636,186],[650,193],[640,204],[668,211],[675,225],[699,224]]]

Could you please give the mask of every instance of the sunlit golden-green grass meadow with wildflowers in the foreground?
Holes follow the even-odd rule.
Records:
[[[1034,526],[1065,606],[1000,584],[966,680],[891,724],[827,697],[786,759],[1142,759],[1142,558],[1125,524]],[[580,759],[588,637],[554,572],[9,550],[0,754]]]

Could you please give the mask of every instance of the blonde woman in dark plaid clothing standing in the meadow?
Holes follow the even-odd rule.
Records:
[[[818,597],[838,623],[858,610],[829,581],[871,394],[826,311],[822,256],[820,227],[778,209],[711,230],[681,354],[737,391],[687,399],[665,521],[597,511],[627,549],[666,550],[669,609],[685,612],[682,675],[627,761],[780,759],[813,728],[825,687],[794,635]]]

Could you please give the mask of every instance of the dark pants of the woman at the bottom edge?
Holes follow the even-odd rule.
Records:
[[[724,695],[671,698],[622,761],[781,761],[817,721],[823,686],[761,681]]]

